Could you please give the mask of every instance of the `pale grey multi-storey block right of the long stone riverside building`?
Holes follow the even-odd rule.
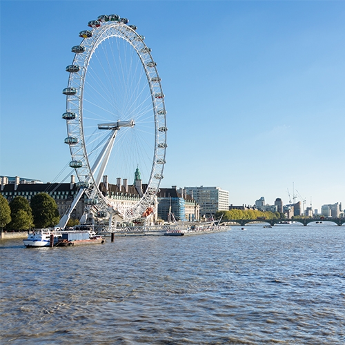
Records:
[[[186,193],[200,205],[200,215],[212,217],[217,211],[229,209],[229,192],[219,187],[185,187]]]

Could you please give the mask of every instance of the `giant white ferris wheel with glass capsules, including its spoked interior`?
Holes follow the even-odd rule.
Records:
[[[161,78],[144,36],[128,19],[102,15],[88,26],[79,33],[79,46],[72,47],[75,57],[66,67],[63,89],[70,167],[89,212],[137,219],[152,207],[166,163]],[[130,181],[135,170],[144,186],[135,202],[120,202],[99,189],[103,176]]]

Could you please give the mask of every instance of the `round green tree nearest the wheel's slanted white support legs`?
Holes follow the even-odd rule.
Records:
[[[57,203],[47,193],[39,193],[31,199],[30,206],[36,228],[47,228],[59,223]]]

